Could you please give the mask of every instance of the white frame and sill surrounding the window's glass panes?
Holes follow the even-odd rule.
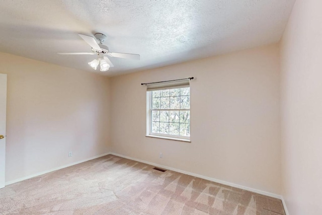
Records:
[[[190,86],[178,86],[174,88],[169,89],[180,89],[180,88],[187,88]],[[155,89],[152,91],[157,91],[159,89]],[[163,90],[167,90],[163,89]],[[165,138],[165,139],[174,139],[174,140],[182,140],[182,141],[188,141],[190,142],[190,136],[191,136],[191,121],[189,122],[190,125],[190,136],[181,136],[181,135],[173,135],[173,134],[164,134],[164,133],[154,133],[151,131],[152,128],[152,111],[153,110],[159,110],[159,111],[190,111],[189,109],[152,109],[152,91],[146,92],[146,136],[149,137],[158,137],[158,138]],[[189,100],[190,100],[190,94],[189,94]],[[190,111],[191,116],[191,111]]]

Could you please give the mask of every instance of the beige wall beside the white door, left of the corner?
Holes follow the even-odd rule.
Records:
[[[110,151],[109,79],[5,53],[0,73],[8,74],[7,182]]]

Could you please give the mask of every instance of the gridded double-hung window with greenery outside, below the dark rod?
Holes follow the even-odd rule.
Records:
[[[189,82],[188,86],[148,88],[147,135],[190,139]]]

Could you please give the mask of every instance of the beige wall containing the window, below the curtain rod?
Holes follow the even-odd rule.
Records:
[[[280,194],[279,69],[271,45],[112,78],[112,152]],[[140,84],[191,76],[191,143],[145,137]]]

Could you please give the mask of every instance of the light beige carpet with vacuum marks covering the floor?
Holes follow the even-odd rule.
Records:
[[[0,190],[0,214],[285,214],[281,200],[108,155]]]

